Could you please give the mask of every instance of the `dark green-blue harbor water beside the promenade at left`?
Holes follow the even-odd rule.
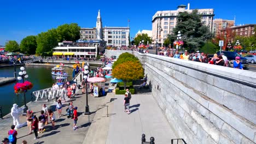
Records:
[[[32,65],[26,65],[24,67],[28,75],[28,78],[25,79],[25,81],[27,80],[33,83],[33,88],[26,92],[26,102],[28,103],[31,101],[31,92],[52,87],[55,80],[51,75],[52,67]],[[68,80],[71,80],[73,69],[65,67],[65,70],[69,75]],[[16,67],[17,76],[19,76],[19,71],[21,71],[20,67]],[[0,77],[14,77],[14,67],[0,68]],[[0,105],[2,106],[3,116],[10,112],[13,104],[18,104],[19,106],[24,105],[24,94],[14,93],[15,83],[16,82],[0,86]],[[35,100],[35,97],[33,97],[33,100]]]

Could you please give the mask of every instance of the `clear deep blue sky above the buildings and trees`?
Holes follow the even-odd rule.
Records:
[[[138,30],[152,29],[152,16],[158,10],[176,10],[179,4],[190,9],[213,8],[214,19],[232,20],[236,24],[256,23],[255,0],[243,1],[2,1],[0,2],[0,45],[7,40],[18,43],[27,35],[37,35],[64,23],[78,23],[80,27],[96,27],[98,10],[104,26],[126,27],[130,19],[131,37]]]

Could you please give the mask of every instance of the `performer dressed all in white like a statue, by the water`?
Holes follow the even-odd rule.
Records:
[[[15,129],[24,127],[24,124],[20,124],[19,115],[22,115],[23,109],[18,107],[17,104],[13,104],[11,107],[11,116],[13,117],[13,125],[15,125]]]

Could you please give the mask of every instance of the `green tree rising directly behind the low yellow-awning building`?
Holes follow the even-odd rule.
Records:
[[[56,28],[58,42],[63,40],[75,41],[80,39],[80,27],[77,23],[64,24]]]

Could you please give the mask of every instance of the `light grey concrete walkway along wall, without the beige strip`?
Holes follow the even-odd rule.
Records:
[[[115,98],[107,144],[140,143],[142,134],[147,141],[153,136],[158,144],[170,143],[176,138],[151,93],[132,95],[130,115],[124,112],[124,96],[115,95]]]

